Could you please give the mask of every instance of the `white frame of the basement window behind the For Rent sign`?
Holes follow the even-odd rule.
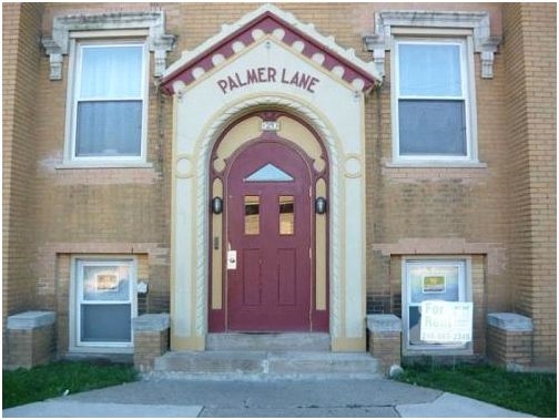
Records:
[[[464,345],[410,345],[409,344],[409,307],[419,306],[410,304],[411,285],[409,281],[408,267],[413,266],[458,266],[458,301],[472,301],[471,294],[471,257],[465,256],[426,256],[426,257],[404,257],[402,258],[402,320],[403,320],[403,340],[402,351],[405,356],[418,355],[472,355],[472,341]]]

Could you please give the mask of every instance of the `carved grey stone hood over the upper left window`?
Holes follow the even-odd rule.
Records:
[[[70,32],[126,29],[149,30],[148,44],[155,58],[154,75],[163,75],[166,53],[173,50],[176,37],[165,33],[165,14],[162,11],[149,11],[54,17],[52,35],[41,40],[50,57],[50,80],[62,80],[62,62],[70,49]]]

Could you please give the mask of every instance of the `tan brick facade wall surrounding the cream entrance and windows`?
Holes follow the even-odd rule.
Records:
[[[60,329],[67,329],[69,274],[57,265],[57,256],[67,264],[70,255],[87,253],[144,256],[146,268],[139,278],[149,280],[150,294],[141,305],[146,311],[169,310],[172,101],[157,95],[151,83],[148,161],[153,167],[57,168],[64,145],[68,57],[62,81],[50,81],[49,58],[37,42],[39,30],[50,34],[54,16],[163,10],[166,32],[179,35],[170,64],[183,50],[217,33],[223,23],[258,6],[3,4],[3,277],[9,279],[3,283],[4,319],[7,311],[31,305],[34,295],[42,308],[62,314],[60,335]],[[386,166],[392,158],[389,54],[383,89],[367,99],[367,306],[377,313],[399,310],[402,280],[395,275],[393,256],[474,255],[484,270],[484,281],[475,286],[475,296],[482,297],[477,300],[479,310],[517,309],[532,316],[537,357],[555,360],[555,4],[278,6],[314,23],[321,33],[334,35],[342,47],[355,49],[366,61],[372,57],[362,35],[373,31],[375,11],[490,12],[491,34],[505,35],[505,41],[491,80],[480,78],[479,54],[475,54],[478,150],[486,168]],[[17,69],[22,70],[17,73]],[[419,250],[416,244],[421,244]],[[477,317],[481,328],[482,317]],[[63,337],[59,339],[68,345]],[[482,351],[484,345],[478,346],[476,351]]]

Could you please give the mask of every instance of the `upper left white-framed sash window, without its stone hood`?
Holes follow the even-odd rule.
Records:
[[[113,34],[116,34],[118,31]],[[75,32],[71,35],[70,44],[70,89],[67,106],[67,141],[64,147],[64,164],[78,166],[134,166],[145,164],[146,161],[146,133],[148,133],[148,92],[149,92],[149,49],[145,40],[145,31],[125,31],[121,37],[106,37],[100,32]],[[126,37],[124,37],[126,35]],[[143,35],[143,38],[139,37]],[[132,38],[130,38],[132,37]],[[99,60],[101,52],[106,53],[104,64]],[[119,52],[122,52],[120,54]],[[140,68],[126,63],[123,58],[141,60]],[[94,61],[96,57],[98,62]],[[98,73],[104,73],[114,69],[113,80],[118,80],[119,72],[123,80],[134,80],[126,89],[122,88],[122,81],[118,80],[113,85],[99,80],[98,85],[85,80],[94,76],[94,72],[88,72],[84,61],[89,61],[90,69],[95,66]],[[111,62],[112,60],[112,62]],[[116,69],[116,66],[121,66]],[[128,68],[126,68],[128,66]],[[124,71],[121,71],[123,69]],[[131,73],[138,71],[135,78]],[[89,73],[89,74],[88,74]],[[108,88],[109,86],[109,88]],[[103,92],[104,91],[104,92]],[[103,106],[105,105],[105,106]],[[112,110],[110,110],[112,107]],[[88,124],[83,123],[84,113],[88,112]],[[95,115],[98,112],[98,115]],[[105,113],[109,122],[95,121],[95,116]],[[120,115],[119,115],[120,113]],[[133,117],[132,117],[133,115]],[[110,117],[113,116],[112,125]],[[120,119],[119,119],[120,116]],[[135,117],[135,124],[134,124]],[[140,121],[138,121],[140,120]],[[128,132],[116,132],[116,127],[129,124]],[[103,130],[103,127],[105,127]],[[91,133],[93,131],[93,133]],[[90,135],[90,139],[85,136]],[[105,135],[105,147],[94,145],[95,141]],[[84,140],[85,139],[85,140]],[[126,142],[132,144],[126,147]],[[89,143],[89,144],[88,144]],[[84,144],[89,146],[84,147]],[[119,150],[119,147],[121,147]]]

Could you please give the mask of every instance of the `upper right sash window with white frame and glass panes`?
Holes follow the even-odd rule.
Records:
[[[395,161],[476,161],[466,39],[396,38],[393,51]]]

